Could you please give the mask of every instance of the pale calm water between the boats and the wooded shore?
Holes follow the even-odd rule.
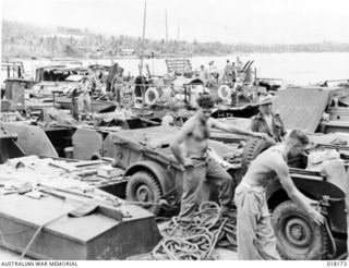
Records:
[[[201,64],[208,68],[208,62],[214,61],[218,70],[224,70],[226,61],[236,61],[237,57],[246,62],[254,61],[252,68],[256,70],[257,77],[281,78],[287,84],[309,85],[327,80],[349,78],[349,52],[290,52],[290,53],[245,53],[221,57],[191,57],[193,70],[198,70]],[[140,59],[81,59],[86,64],[107,64],[118,62],[124,69],[124,74],[137,76],[140,74]],[[50,60],[23,60],[26,74],[33,76],[35,69],[51,63]],[[165,59],[145,59],[143,74],[146,65],[153,75],[164,75],[167,72]],[[34,72],[33,72],[34,71]],[[2,74],[3,78],[3,74]]]

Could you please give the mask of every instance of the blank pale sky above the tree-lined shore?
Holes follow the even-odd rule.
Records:
[[[146,38],[349,42],[348,0],[147,0]],[[2,0],[4,20],[142,36],[144,0]]]

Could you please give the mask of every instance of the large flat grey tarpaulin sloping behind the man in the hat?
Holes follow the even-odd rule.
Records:
[[[277,92],[274,101],[287,130],[300,129],[315,132],[325,111],[328,89],[287,88]]]

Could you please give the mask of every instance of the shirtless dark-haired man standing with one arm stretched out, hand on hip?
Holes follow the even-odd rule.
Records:
[[[219,186],[221,212],[229,215],[233,196],[231,176],[220,165],[207,155],[208,137],[213,127],[255,137],[266,137],[264,133],[254,133],[224,124],[210,118],[214,100],[210,95],[201,95],[197,100],[197,113],[190,118],[179,131],[171,144],[176,159],[184,168],[183,195],[181,200],[180,222],[189,223],[193,217],[204,180]]]

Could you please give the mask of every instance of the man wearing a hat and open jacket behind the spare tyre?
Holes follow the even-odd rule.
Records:
[[[260,112],[252,118],[251,131],[266,133],[275,142],[284,142],[285,125],[278,113],[273,112],[273,96],[260,98]]]

